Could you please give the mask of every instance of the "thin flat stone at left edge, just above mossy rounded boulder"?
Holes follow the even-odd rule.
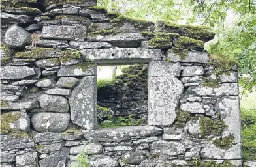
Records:
[[[20,100],[18,102],[5,102],[1,104],[1,109],[19,110],[19,109],[35,109],[39,107],[39,102],[35,99]]]

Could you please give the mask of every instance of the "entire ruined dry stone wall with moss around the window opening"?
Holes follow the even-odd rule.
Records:
[[[214,32],[165,21],[156,32],[96,5],[1,1],[1,167],[242,166],[237,66],[204,51]],[[144,124],[97,123],[97,100],[117,100],[97,94],[97,66],[112,64],[148,65],[112,85],[114,110],[138,108]]]

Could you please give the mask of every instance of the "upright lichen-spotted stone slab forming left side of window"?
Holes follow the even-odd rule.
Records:
[[[87,130],[97,127],[97,78],[83,77],[69,98],[71,120]]]

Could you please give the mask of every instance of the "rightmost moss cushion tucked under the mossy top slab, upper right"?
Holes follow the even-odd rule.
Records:
[[[175,42],[175,46],[176,48],[182,48],[182,49],[188,49],[188,50],[196,50],[196,51],[204,50],[203,41],[195,40],[187,36],[180,36],[178,40]]]

